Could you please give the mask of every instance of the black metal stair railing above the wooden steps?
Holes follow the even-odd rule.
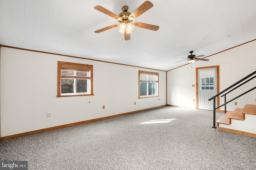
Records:
[[[256,78],[256,76],[253,76],[254,74],[256,74],[256,71],[252,72],[251,74],[249,74],[248,76],[242,78],[241,80],[239,80],[238,82],[232,84],[231,86],[229,86],[228,88],[226,88],[225,90],[223,90],[222,92],[216,94],[215,96],[213,96],[212,98],[209,99],[209,101],[213,100],[213,126],[212,128],[216,128],[216,109],[222,107],[222,106],[225,106],[225,113],[226,113],[226,104],[232,102],[233,100],[236,100],[237,98],[240,98],[241,96],[243,96],[244,94],[256,89],[256,86],[254,88],[251,88],[250,90],[244,92],[243,94],[240,94],[238,96],[236,96],[235,98],[229,100],[228,102],[226,101],[226,95],[229,94],[230,92],[232,92],[233,90],[237,89],[238,87],[246,84],[247,82],[249,82],[250,80]],[[252,78],[250,78],[251,76],[253,76]],[[248,79],[250,78],[250,79]],[[246,80],[248,79],[248,80]],[[243,82],[244,80],[246,80],[245,82]],[[242,84],[240,84],[241,82],[243,82]],[[233,88],[234,87],[234,88]],[[232,90],[230,90],[231,88],[233,88]],[[230,91],[228,91],[230,90]],[[226,92],[228,91],[228,92]],[[226,92],[225,94],[223,94],[224,92]],[[221,94],[223,94],[222,96],[220,96]],[[216,107],[216,98],[220,96],[220,97],[223,97],[224,96],[224,104]]]

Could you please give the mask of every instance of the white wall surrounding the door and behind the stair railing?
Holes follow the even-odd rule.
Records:
[[[222,53],[207,57],[210,61],[196,61],[167,72],[167,104],[181,107],[196,107],[196,68],[206,66],[220,66],[220,92],[230,85],[244,78],[248,74],[256,71],[256,41],[240,45]],[[196,51],[195,51],[196,52]],[[196,54],[196,53],[195,53]],[[201,54],[197,54],[201,55]],[[192,68],[191,68],[192,67]],[[238,88],[235,92],[227,96],[227,101],[255,87],[256,79],[250,84]],[[244,107],[245,104],[255,104],[256,90],[236,99],[227,105],[227,110],[233,111],[236,107]],[[238,102],[235,106],[234,102]],[[220,104],[224,103],[224,97],[220,99]],[[221,107],[224,110],[224,107]]]

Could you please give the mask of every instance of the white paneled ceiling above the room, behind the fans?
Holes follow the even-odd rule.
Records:
[[[150,0],[154,6],[134,22],[158,31],[135,27],[128,41],[118,28],[94,33],[119,23],[94,6],[118,15],[144,1],[0,0],[0,44],[170,70],[187,64],[176,62],[189,51],[207,57],[256,39],[256,0]]]

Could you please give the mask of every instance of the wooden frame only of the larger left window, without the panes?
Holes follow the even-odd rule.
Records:
[[[61,95],[61,69],[84,69],[90,70],[90,94],[73,94],[73,95]],[[72,96],[92,96],[93,94],[93,65],[69,63],[64,61],[58,61],[58,72],[57,72],[57,97],[72,97]]]

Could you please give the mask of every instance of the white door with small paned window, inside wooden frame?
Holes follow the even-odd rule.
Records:
[[[198,70],[198,109],[213,110],[213,100],[217,94],[216,68]]]

